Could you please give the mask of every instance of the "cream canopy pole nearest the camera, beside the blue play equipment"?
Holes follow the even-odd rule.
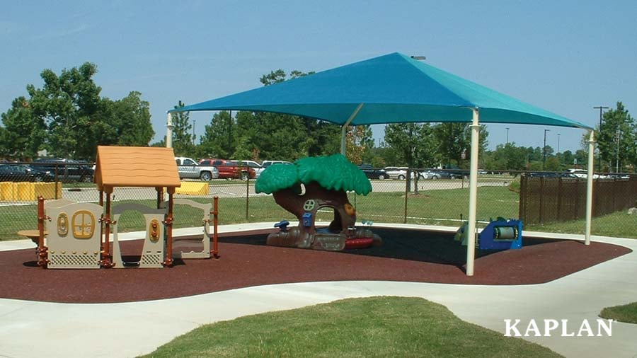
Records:
[[[471,166],[469,171],[469,223],[466,239],[466,275],[474,275],[476,259],[476,212],[478,211],[478,149],[480,142],[480,113],[471,108],[474,117],[471,122]]]

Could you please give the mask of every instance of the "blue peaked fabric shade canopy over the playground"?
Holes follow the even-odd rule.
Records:
[[[480,122],[592,129],[395,52],[168,112],[280,112],[344,125]]]

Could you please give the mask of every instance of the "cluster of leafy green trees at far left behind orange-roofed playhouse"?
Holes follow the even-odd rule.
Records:
[[[59,76],[43,70],[42,88],[29,84],[28,98],[16,98],[2,114],[2,154],[25,159],[47,149],[53,156],[94,159],[100,144],[147,146],[154,135],[149,103],[134,91],[122,100],[101,98],[96,72],[91,62]]]

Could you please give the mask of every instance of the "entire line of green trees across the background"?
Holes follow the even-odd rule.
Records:
[[[50,156],[94,160],[98,145],[165,146],[165,140],[149,144],[154,131],[149,103],[131,91],[120,100],[101,97],[93,81],[95,64],[50,69],[40,76],[44,85],[29,84],[28,97],[15,98],[2,113],[0,156],[29,160],[47,149]],[[278,69],[260,77],[263,86],[313,74]],[[185,103],[178,101],[175,108]],[[188,112],[173,114],[173,149],[177,156],[233,158],[239,160],[288,160],[340,151],[340,127],[314,118],[279,113],[215,112],[202,135],[195,137]],[[596,128],[599,157],[605,171],[634,171],[637,164],[637,125],[621,102],[604,113]],[[369,126],[349,127],[348,158],[375,167],[449,166],[467,168],[471,146],[469,123],[398,123],[385,127],[384,142],[376,144]],[[545,148],[499,144],[489,151],[488,132],[481,126],[480,167],[485,170],[561,171],[585,166],[583,149],[553,153]]]

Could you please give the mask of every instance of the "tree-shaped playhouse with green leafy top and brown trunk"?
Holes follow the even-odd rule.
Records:
[[[277,204],[299,219],[299,226],[291,229],[287,221],[277,223],[280,231],[270,233],[268,245],[338,251],[381,243],[371,230],[355,227],[356,209],[347,192],[367,195],[372,184],[341,154],[269,166],[259,176],[255,191],[271,193]],[[316,226],[321,209],[334,213],[326,227]]]

